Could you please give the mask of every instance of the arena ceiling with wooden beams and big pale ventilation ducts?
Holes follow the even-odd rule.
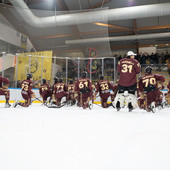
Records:
[[[150,9],[153,16],[146,12],[143,17],[133,14],[133,17],[129,17],[129,19],[112,20],[106,17],[103,22],[81,22],[81,17],[82,21],[84,20],[84,15],[81,14],[89,13],[90,15],[86,18],[95,20],[97,17],[99,18],[100,11],[108,10],[105,15],[109,15],[110,9],[119,8],[124,10],[122,15],[127,14],[128,16],[130,15],[129,10],[131,10],[129,7],[145,7],[145,5],[147,7],[148,5],[167,3],[168,8],[170,0],[25,0],[28,9],[24,8],[24,10],[31,12],[34,16],[43,19],[51,16],[63,16],[65,21],[62,23],[56,18],[56,23],[59,22],[59,25],[44,24],[44,26],[43,24],[41,26],[30,24],[31,18],[25,19],[24,12],[22,15],[22,12],[18,11],[20,5],[17,6],[12,1],[18,0],[0,0],[0,22],[27,35],[37,51],[53,50],[55,53],[81,51],[86,55],[86,49],[91,46],[98,49],[120,50],[154,45],[168,47],[170,44],[169,35],[161,36],[162,33],[170,31],[170,13],[162,15],[164,9],[159,9],[159,6],[158,10]],[[159,10],[160,13],[156,14]],[[100,13],[93,15],[92,11]],[[79,22],[75,23],[72,19],[69,20],[69,14],[79,16]],[[101,17],[103,16],[101,15]],[[147,35],[150,34],[158,36],[149,38]],[[145,35],[145,37],[139,38],[141,35]],[[109,37],[113,37],[112,40],[108,39]]]

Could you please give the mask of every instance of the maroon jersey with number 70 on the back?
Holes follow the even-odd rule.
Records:
[[[139,91],[149,92],[158,89],[158,82],[164,82],[165,78],[158,74],[146,74],[139,80]]]

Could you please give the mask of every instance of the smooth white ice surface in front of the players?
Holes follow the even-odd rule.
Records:
[[[0,170],[170,170],[170,108],[0,104]]]

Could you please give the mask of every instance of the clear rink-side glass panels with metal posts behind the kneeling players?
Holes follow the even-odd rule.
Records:
[[[11,56],[10,56],[11,57]],[[9,59],[9,54],[3,52],[0,56],[1,59],[1,75],[7,77],[10,80],[10,87],[20,87],[20,82],[26,78],[27,73],[33,74],[33,81],[37,84],[40,83],[46,71],[46,67],[49,67],[44,59],[49,56],[33,56],[28,55],[28,61],[24,62],[24,56],[19,54],[13,55],[13,59]],[[36,58],[38,58],[36,60]],[[23,61],[22,61],[23,59]],[[13,60],[13,61],[11,61]],[[5,66],[5,63],[10,63]],[[20,71],[20,67],[23,67]],[[4,67],[5,66],[5,67]],[[103,57],[103,58],[69,58],[69,57],[51,57],[50,67],[51,74],[47,78],[49,83],[53,83],[54,77],[63,78],[67,84],[70,79],[76,80],[82,76],[83,71],[87,71],[88,78],[97,82],[100,75],[104,75],[106,80],[116,83],[116,58]],[[36,71],[39,74],[37,75]],[[22,74],[22,75],[21,75]]]

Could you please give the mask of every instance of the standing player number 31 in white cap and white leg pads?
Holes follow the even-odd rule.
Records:
[[[118,93],[114,101],[114,107],[119,111],[124,103],[132,111],[137,107],[137,78],[136,75],[140,73],[140,63],[134,59],[136,54],[132,51],[127,53],[126,58],[121,59],[117,65],[117,72],[119,73]]]

